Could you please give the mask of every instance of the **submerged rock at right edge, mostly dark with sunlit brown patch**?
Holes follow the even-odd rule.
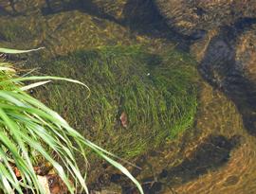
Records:
[[[199,70],[223,91],[243,115],[247,132],[256,134],[256,20],[223,26],[210,39]]]

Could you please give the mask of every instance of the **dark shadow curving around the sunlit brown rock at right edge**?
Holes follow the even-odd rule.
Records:
[[[210,41],[199,72],[235,103],[247,132],[256,135],[256,82],[245,76],[246,64],[236,60],[237,40],[253,24],[256,18],[244,18],[223,27]]]

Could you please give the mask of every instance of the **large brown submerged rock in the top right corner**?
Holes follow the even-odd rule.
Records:
[[[167,24],[180,34],[198,39],[206,31],[233,24],[239,18],[255,17],[254,0],[155,0]]]

